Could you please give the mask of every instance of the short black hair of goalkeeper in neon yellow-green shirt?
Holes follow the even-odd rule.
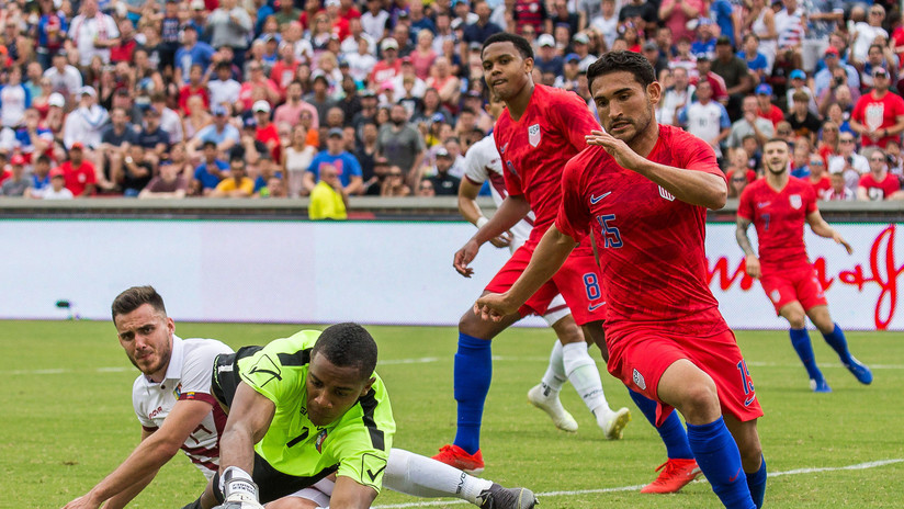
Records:
[[[366,329],[350,321],[327,327],[310,357],[315,353],[338,367],[357,367],[362,377],[370,377],[376,369],[376,341]]]

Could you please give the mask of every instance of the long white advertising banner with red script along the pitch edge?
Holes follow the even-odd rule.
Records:
[[[896,227],[836,225],[852,256],[807,230],[841,327],[904,330]],[[460,276],[452,256],[473,233],[434,222],[0,220],[0,318],[109,319],[118,292],[151,284],[180,320],[455,325],[508,257],[486,245],[474,278]],[[710,286],[732,327],[786,327],[744,274],[734,225],[709,224],[707,251]]]

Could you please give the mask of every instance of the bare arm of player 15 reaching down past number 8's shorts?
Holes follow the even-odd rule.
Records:
[[[474,304],[474,314],[485,320],[499,321],[518,310],[540,286],[565,263],[577,241],[555,227],[543,235],[528,268],[504,294],[488,293]]]

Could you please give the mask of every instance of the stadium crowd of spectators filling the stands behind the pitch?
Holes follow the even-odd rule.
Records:
[[[771,137],[822,200],[904,199],[904,24],[841,0],[7,0],[0,195],[454,195],[487,136],[483,42],[596,115],[586,70],[643,54],[658,121],[707,140],[737,196]],[[485,190],[486,191],[486,190]]]

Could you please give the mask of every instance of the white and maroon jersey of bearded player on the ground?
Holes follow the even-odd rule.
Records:
[[[211,395],[214,359],[221,353],[233,353],[233,349],[215,339],[181,339],[173,335],[163,382],[140,374],[132,386],[132,406],[145,431],[160,428],[176,401],[197,399],[211,405],[211,412],[182,444],[185,455],[207,478],[219,467],[219,436],[226,426],[226,414]]]

